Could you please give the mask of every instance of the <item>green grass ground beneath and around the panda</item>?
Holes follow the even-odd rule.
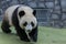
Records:
[[[13,34],[6,34],[0,28],[0,44],[30,44],[20,41],[13,28],[11,29]],[[66,29],[38,26],[38,40],[35,44],[66,44]]]

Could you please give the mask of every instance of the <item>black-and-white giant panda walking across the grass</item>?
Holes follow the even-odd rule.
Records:
[[[9,7],[3,15],[1,29],[4,33],[11,33],[10,26],[14,26],[20,40],[25,42],[37,41],[36,11],[28,6]]]

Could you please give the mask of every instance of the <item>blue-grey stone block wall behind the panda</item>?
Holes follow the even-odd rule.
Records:
[[[6,9],[13,4],[35,9],[40,25],[66,28],[66,0],[0,0],[0,20]]]

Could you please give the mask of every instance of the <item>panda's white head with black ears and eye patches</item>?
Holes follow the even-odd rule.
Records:
[[[21,29],[31,32],[37,25],[36,11],[30,7],[20,7],[18,10],[19,25]]]

